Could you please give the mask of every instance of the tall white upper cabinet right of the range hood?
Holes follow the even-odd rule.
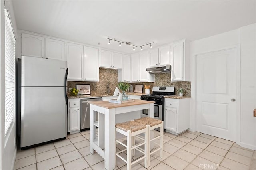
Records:
[[[190,81],[190,56],[187,40],[171,44],[171,81]]]

